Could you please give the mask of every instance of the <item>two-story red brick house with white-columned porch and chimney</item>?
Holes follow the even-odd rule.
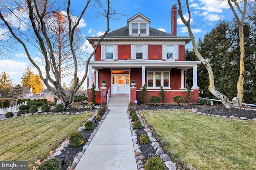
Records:
[[[90,101],[92,82],[96,86],[96,103],[101,102],[100,84],[106,80],[110,95],[134,96],[130,85],[136,81],[135,96],[139,101],[141,88],[146,84],[146,103],[151,96],[160,96],[160,86],[164,88],[165,103],[174,103],[174,96],[186,100],[184,72],[193,69],[193,86],[190,102],[198,102],[197,64],[199,61],[186,61],[185,45],[190,37],[177,36],[177,7],[171,11],[172,33],[150,27],[150,19],[138,13],[127,20],[127,26],[106,34],[89,63],[87,94]],[[168,21],[166,21],[168,22]],[[95,47],[101,37],[86,37]],[[93,71],[94,77],[92,76]],[[161,100],[162,102],[162,100]]]

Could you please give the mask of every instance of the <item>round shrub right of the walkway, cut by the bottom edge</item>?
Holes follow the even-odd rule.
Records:
[[[160,157],[154,157],[146,162],[145,170],[166,170],[166,168]]]

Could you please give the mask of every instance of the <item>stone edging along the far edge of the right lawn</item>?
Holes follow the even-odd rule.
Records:
[[[236,109],[241,109],[240,107],[235,107]],[[240,120],[252,120],[252,121],[256,121],[256,118],[254,119],[247,119],[246,117],[236,117],[234,115],[231,115],[230,117],[228,116],[220,116],[220,115],[214,115],[214,114],[206,114],[206,113],[202,113],[202,112],[197,112],[195,108],[192,108],[192,109],[154,109],[154,110],[139,110],[139,111],[170,111],[170,110],[189,110],[191,111],[192,113],[195,113],[195,114],[198,114],[198,115],[204,115],[204,116],[212,116],[212,117],[222,117],[222,118],[230,118],[230,119],[240,119]]]

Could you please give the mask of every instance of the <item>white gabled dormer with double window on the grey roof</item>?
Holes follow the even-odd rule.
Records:
[[[138,13],[132,18],[127,20],[127,29],[129,30],[129,35],[132,36],[148,36],[149,35],[149,24],[150,19],[146,16]]]

